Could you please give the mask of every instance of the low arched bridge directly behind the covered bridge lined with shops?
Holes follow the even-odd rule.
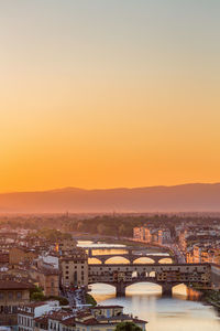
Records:
[[[121,248],[121,249],[123,249],[123,248]],[[143,253],[141,255],[138,255],[138,254],[133,253],[133,249],[131,249],[131,248],[125,248],[124,250],[127,250],[127,253],[114,253],[114,254],[99,255],[99,254],[94,254],[92,249],[88,249],[88,257],[89,258],[96,258],[96,259],[100,260],[102,264],[106,264],[107,260],[112,258],[112,257],[123,257],[130,264],[133,264],[136,259],[139,259],[141,257],[151,258],[154,264],[158,264],[164,258],[170,258],[172,261],[175,261],[175,258],[173,256],[169,256],[168,254],[167,255],[165,255],[165,254],[156,254],[155,255],[155,254]]]

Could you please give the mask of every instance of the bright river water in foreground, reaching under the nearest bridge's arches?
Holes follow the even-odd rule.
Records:
[[[127,297],[116,298],[114,288],[94,285],[91,295],[98,303],[121,305],[124,311],[147,320],[147,331],[219,331],[220,319],[215,309],[187,300],[186,287],[178,285],[173,298],[162,298],[155,284],[135,284],[127,288]]]

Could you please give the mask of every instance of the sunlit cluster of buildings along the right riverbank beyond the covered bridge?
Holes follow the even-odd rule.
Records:
[[[172,227],[172,228],[170,228]],[[183,222],[169,227],[152,223],[133,228],[133,239],[147,244],[166,246],[186,263],[211,263],[220,265],[220,225]]]

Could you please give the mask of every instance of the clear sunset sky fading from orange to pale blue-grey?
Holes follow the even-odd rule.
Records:
[[[0,191],[220,181],[219,0],[0,2]]]

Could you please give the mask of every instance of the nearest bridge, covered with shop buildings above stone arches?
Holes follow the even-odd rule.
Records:
[[[124,296],[125,288],[136,282],[154,282],[162,287],[162,295],[170,296],[172,288],[179,284],[210,286],[210,264],[182,265],[89,265],[89,284],[109,284],[116,287],[117,296]]]

